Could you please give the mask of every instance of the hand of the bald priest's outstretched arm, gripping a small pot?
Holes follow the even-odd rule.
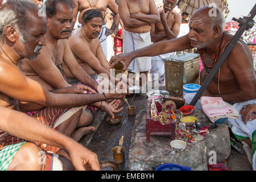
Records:
[[[123,66],[122,72],[125,72],[126,69],[129,67],[129,64],[131,63],[131,61],[133,61],[133,57],[130,53],[112,56],[112,58],[109,61],[109,63],[111,64],[110,68],[113,68],[114,65],[116,65],[121,61],[125,64]]]

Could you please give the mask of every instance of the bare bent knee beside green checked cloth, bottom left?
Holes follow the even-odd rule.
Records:
[[[39,162],[40,151],[42,150],[36,144],[24,143],[14,156],[8,170],[42,171],[43,164]]]

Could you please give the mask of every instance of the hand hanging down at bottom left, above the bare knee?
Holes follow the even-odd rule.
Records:
[[[94,171],[100,171],[100,164],[94,152],[75,142],[70,148],[68,150],[69,157],[78,171],[85,171],[84,166],[89,166]]]

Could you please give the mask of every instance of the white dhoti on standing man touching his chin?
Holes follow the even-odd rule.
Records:
[[[165,53],[163,55],[153,56],[151,58],[150,73],[152,76],[152,80],[158,79],[159,86],[164,86],[164,80],[165,80],[164,59],[174,55],[176,55],[176,52]]]

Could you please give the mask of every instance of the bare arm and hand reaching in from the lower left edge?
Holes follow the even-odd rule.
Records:
[[[43,123],[19,111],[0,106],[0,130],[32,142],[47,143],[68,152],[73,166],[77,170],[85,170],[87,163],[93,170],[100,170],[97,155],[89,151],[75,140],[50,129]]]

